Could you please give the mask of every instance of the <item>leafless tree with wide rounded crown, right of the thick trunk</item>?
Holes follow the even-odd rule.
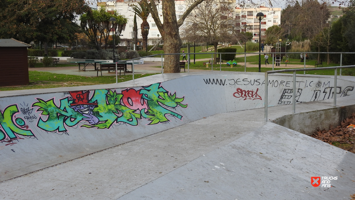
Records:
[[[219,42],[235,43],[244,38],[236,29],[237,22],[234,6],[228,1],[205,0],[186,17],[180,28],[181,36],[188,41],[213,43],[217,53]],[[217,64],[216,57],[214,54],[214,64]]]

